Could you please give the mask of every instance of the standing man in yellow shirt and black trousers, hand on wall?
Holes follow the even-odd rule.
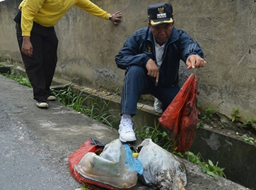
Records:
[[[107,13],[89,0],[23,0],[19,6],[20,18],[17,16],[16,33],[21,56],[38,108],[48,108],[50,85],[57,64],[58,39],[54,25],[72,6],[111,20],[118,25],[122,13]]]

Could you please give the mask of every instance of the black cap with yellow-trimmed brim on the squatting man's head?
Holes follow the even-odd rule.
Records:
[[[148,6],[148,17],[152,26],[173,23],[173,6],[170,3],[151,4]]]

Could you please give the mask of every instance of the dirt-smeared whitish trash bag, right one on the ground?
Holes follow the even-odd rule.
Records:
[[[145,139],[138,146],[139,160],[144,167],[139,180],[147,186],[160,190],[185,190],[187,184],[186,167],[182,161],[173,154],[165,151],[151,139]]]

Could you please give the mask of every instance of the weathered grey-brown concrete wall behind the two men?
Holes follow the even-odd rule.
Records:
[[[21,1],[0,2],[0,56],[21,62],[13,17]],[[122,23],[74,7],[57,24],[59,61],[55,77],[76,84],[122,91],[124,70],[115,55],[132,32],[147,23],[146,7],[161,1],[94,0],[110,13],[121,11]],[[199,103],[228,117],[240,108],[243,119],[256,119],[255,0],[180,0],[174,7],[176,27],[202,47],[207,66],[197,70]],[[22,65],[21,63],[17,63]],[[181,68],[182,81],[188,73]]]

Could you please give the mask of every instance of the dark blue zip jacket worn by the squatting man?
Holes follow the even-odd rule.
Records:
[[[180,59],[186,63],[187,57],[197,54],[204,58],[200,46],[186,32],[173,27],[172,34],[166,42],[163,53],[163,63],[159,69],[158,86],[170,87],[178,84]],[[146,68],[150,58],[156,61],[153,34],[149,27],[134,32],[125,42],[120,52],[115,56],[117,67],[126,69],[131,65]]]

